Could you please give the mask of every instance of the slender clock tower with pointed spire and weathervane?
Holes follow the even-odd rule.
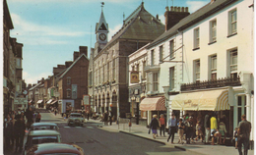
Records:
[[[105,22],[103,14],[103,5],[101,3],[101,15],[99,22],[96,23],[96,54],[106,45],[107,43],[107,34],[108,34],[108,24]]]

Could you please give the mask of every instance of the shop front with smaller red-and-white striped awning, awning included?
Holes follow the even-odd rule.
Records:
[[[140,104],[140,111],[147,112],[147,124],[148,126],[151,123],[153,115],[160,115],[163,114],[164,119],[166,121],[166,107],[165,107],[165,98],[163,96],[157,97],[146,97],[141,101]]]

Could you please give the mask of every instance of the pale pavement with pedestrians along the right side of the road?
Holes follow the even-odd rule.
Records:
[[[142,137],[142,138],[146,138],[149,140],[153,140],[156,142],[159,142],[161,144],[170,146],[170,147],[175,147],[178,149],[181,149],[183,151],[191,151],[197,154],[207,154],[207,155],[217,155],[217,154],[238,154],[238,150],[235,149],[234,146],[225,146],[225,145],[210,145],[210,144],[204,144],[203,142],[199,141],[195,141],[195,143],[191,143],[191,144],[178,144],[178,134],[175,133],[174,135],[174,144],[167,142],[167,136],[168,133],[165,132],[165,137],[164,136],[160,136],[160,130],[158,130],[159,136],[154,139],[152,134],[149,134],[149,129],[145,126],[142,125],[135,125],[132,124],[131,127],[128,126],[128,124],[119,124],[117,125],[116,123],[112,123],[112,126],[105,126],[103,125],[102,122],[99,122],[99,120],[92,120],[90,119],[88,121],[88,123],[95,123],[98,124],[98,127],[102,128],[102,129],[114,129],[116,131],[119,132],[123,132],[123,133],[127,133],[127,134],[131,134],[134,136],[138,136],[138,137]],[[254,150],[249,150],[248,151],[248,155],[253,155],[254,154]]]

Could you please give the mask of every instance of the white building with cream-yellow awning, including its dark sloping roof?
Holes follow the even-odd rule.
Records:
[[[243,114],[254,122],[253,14],[253,0],[212,0],[146,47],[159,93],[169,87],[169,114],[225,115],[229,134]]]

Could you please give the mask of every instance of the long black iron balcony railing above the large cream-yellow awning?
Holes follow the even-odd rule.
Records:
[[[181,91],[190,91],[196,89],[207,89],[207,88],[217,88],[224,86],[240,86],[240,78],[219,78],[216,80],[210,79],[199,82],[185,83],[181,84]]]

